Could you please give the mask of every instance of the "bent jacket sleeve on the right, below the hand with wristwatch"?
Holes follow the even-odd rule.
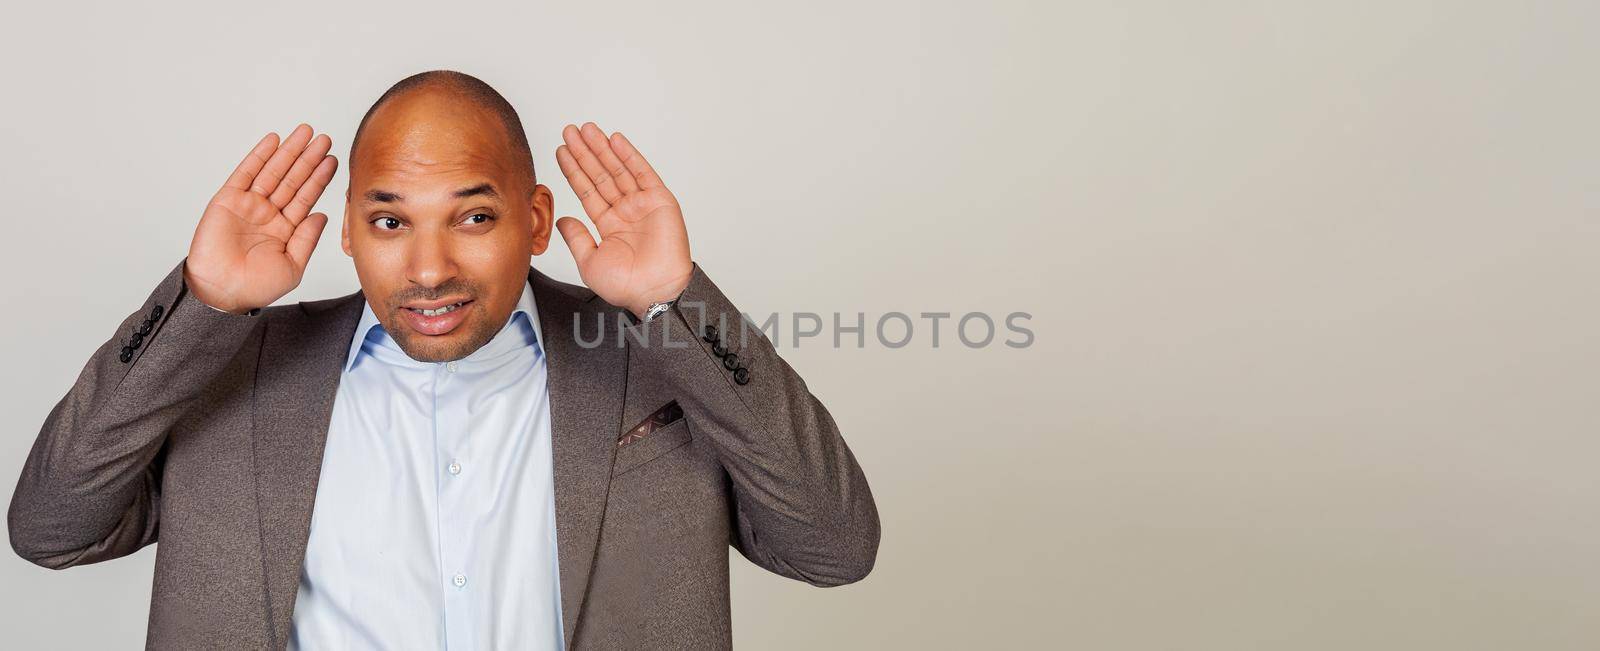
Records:
[[[813,585],[872,571],[878,512],[827,408],[771,341],[696,264],[666,314],[635,323],[634,363],[670,384],[690,429],[709,435],[733,483],[730,544]]]

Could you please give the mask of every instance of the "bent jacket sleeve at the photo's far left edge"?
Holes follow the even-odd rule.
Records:
[[[51,569],[155,542],[168,430],[238,352],[259,310],[189,294],[184,261],[94,350],[34,440],[6,525],[11,549]]]

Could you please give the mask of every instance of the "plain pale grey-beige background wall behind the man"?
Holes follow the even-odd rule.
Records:
[[[734,558],[760,649],[1600,646],[1600,8],[1467,2],[142,3],[0,26],[0,486],[266,131],[346,158],[451,67],[622,130],[746,310],[1034,314],[786,358],[874,574]],[[333,216],[285,301],[357,288]],[[558,242],[558,238],[557,238]],[[536,259],[576,280],[560,243]],[[952,345],[955,344],[955,345]],[[138,648],[154,549],[0,560],[14,648]]]

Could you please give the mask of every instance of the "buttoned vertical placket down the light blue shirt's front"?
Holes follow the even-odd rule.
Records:
[[[470,649],[474,569],[472,510],[467,505],[474,473],[467,454],[466,382],[459,363],[434,365],[434,473],[438,486],[438,585],[445,595],[445,643],[450,649]]]

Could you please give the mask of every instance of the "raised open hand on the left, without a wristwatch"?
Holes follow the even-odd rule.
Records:
[[[333,139],[299,125],[269,133],[211,197],[189,243],[184,282],[200,302],[246,314],[299,286],[328,216],[310,213],[339,162]]]

